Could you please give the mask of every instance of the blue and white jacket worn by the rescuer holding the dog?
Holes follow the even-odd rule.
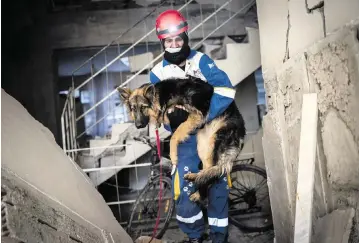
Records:
[[[207,81],[214,87],[207,122],[222,114],[232,103],[236,91],[227,74],[220,70],[208,55],[195,50],[191,50],[186,60],[185,71],[163,59],[152,68],[150,81],[155,84],[164,79],[185,78],[187,75]]]

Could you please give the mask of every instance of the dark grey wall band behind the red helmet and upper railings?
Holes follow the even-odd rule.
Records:
[[[184,11],[184,15],[188,20],[191,28],[194,28],[201,22],[200,11],[202,11],[202,19],[212,14],[215,9],[213,4],[204,4],[200,9],[199,4],[190,4]],[[179,8],[179,7],[176,7]],[[89,47],[104,46],[110,41],[115,40],[120,34],[125,32],[129,27],[133,26],[141,18],[146,16],[152,8],[138,8],[129,10],[107,10],[107,11],[91,11],[91,12],[73,12],[61,13],[50,17],[49,35],[52,39],[53,48],[73,48],[73,47]],[[121,44],[132,44],[138,38],[143,37],[146,33],[154,28],[156,17],[168,7],[160,7],[151,14],[145,21],[134,27],[130,32],[124,34],[118,41]],[[217,14],[218,23],[228,19],[228,11],[220,11]],[[245,34],[244,23],[251,22],[252,19],[244,19],[241,15],[237,15],[223,28],[214,33],[213,36],[224,35],[242,35]],[[211,18],[195,31],[191,31],[190,38],[202,38],[213,31],[217,26],[215,18]],[[144,38],[143,42],[158,42],[155,31]]]

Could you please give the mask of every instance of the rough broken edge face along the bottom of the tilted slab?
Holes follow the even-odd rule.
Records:
[[[2,170],[1,235],[7,242],[106,242],[101,234],[77,223]]]

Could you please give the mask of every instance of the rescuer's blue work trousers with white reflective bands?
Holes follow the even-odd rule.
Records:
[[[176,219],[189,238],[200,238],[204,233],[204,217],[199,205],[189,197],[196,192],[193,182],[184,179],[187,173],[199,172],[201,161],[197,153],[197,137],[192,135],[178,147],[178,166],[172,175],[172,193],[176,205]],[[223,175],[208,191],[208,224],[212,242],[227,242],[228,182]]]

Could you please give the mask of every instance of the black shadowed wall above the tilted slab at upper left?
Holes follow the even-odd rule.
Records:
[[[51,41],[46,9],[39,1],[3,3],[2,88],[60,142]]]

